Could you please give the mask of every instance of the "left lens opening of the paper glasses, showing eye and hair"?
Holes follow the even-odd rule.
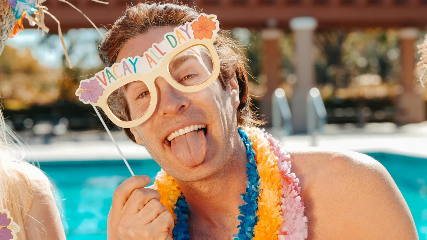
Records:
[[[111,112],[124,122],[143,116],[150,102],[150,89],[143,81],[130,82],[113,91],[107,98]]]

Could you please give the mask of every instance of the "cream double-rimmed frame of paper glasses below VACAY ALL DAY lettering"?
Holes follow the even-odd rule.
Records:
[[[163,61],[160,63],[160,65],[156,69],[152,70],[149,73],[135,73],[114,82],[113,84],[111,84],[111,86],[105,89],[104,93],[102,94],[102,96],[99,97],[98,101],[96,103],[92,103],[92,105],[101,108],[104,111],[104,113],[107,115],[107,117],[119,127],[132,128],[142,124],[148,118],[151,117],[151,115],[154,113],[154,110],[156,109],[157,90],[155,86],[155,80],[158,77],[164,78],[172,87],[186,93],[201,91],[206,87],[210,86],[213,82],[215,82],[215,80],[220,75],[220,59],[213,45],[214,42],[215,42],[215,37],[212,37],[211,39],[204,38],[202,40],[191,39],[190,41],[179,45],[178,47],[173,49],[169,54],[165,56]],[[170,61],[181,52],[187,50],[188,48],[198,46],[198,45],[206,47],[206,49],[210,53],[210,56],[212,58],[212,74],[206,81],[198,85],[195,85],[195,86],[181,85],[178,82],[176,82],[176,80],[173,79],[172,75],[170,74],[170,71],[169,71]],[[144,79],[144,80],[141,80],[141,79]],[[107,99],[110,96],[110,94],[113,93],[115,90],[119,89],[120,87],[128,83],[135,82],[135,81],[142,81],[147,85],[151,95],[150,105],[147,111],[141,117],[128,122],[122,121],[119,118],[117,118],[117,116],[115,116],[111,111],[110,107],[108,107]]]

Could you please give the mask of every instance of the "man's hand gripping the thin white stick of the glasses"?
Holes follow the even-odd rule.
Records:
[[[108,215],[109,240],[172,240],[172,214],[160,203],[156,190],[145,188],[148,183],[148,176],[133,176],[114,191]]]

